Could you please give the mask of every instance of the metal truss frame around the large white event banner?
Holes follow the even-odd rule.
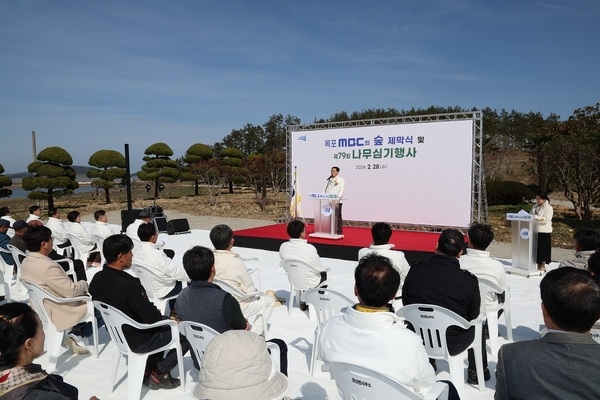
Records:
[[[437,121],[459,121],[473,120],[473,164],[471,174],[471,220],[472,222],[487,222],[488,220],[488,205],[487,193],[485,188],[485,173],[483,164],[483,112],[469,111],[444,114],[427,114],[427,115],[407,115],[402,117],[390,118],[372,118],[355,121],[333,121],[314,124],[289,125],[287,127],[286,140],[286,187],[290,188],[290,179],[292,176],[292,132],[296,131],[314,131],[320,129],[335,129],[349,128],[360,126],[376,126],[376,125],[399,125],[413,124],[420,122],[437,122]],[[289,205],[291,202],[291,192],[288,192],[288,218]],[[353,226],[370,226],[377,221],[344,221]],[[442,226],[425,226],[425,225],[409,225],[409,224],[394,224],[396,229],[404,230],[426,230],[435,231],[446,227]],[[450,228],[450,227],[448,227]],[[466,227],[452,227],[466,228]]]

